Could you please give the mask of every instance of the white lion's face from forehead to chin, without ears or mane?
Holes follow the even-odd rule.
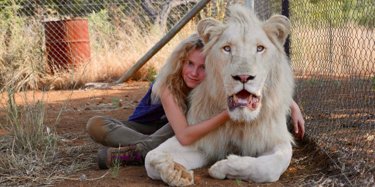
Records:
[[[231,118],[251,120],[260,112],[264,82],[277,50],[260,25],[228,26],[213,46],[219,51],[216,62],[224,67],[222,78]]]

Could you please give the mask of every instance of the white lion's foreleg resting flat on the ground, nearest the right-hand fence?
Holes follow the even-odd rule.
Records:
[[[277,181],[288,168],[292,157],[290,144],[277,145],[259,157],[240,157],[230,155],[225,160],[216,162],[208,170],[213,178],[241,179],[256,183]]]

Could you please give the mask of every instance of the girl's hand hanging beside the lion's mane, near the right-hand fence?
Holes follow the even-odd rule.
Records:
[[[305,120],[303,120],[301,110],[294,101],[292,101],[291,112],[294,135],[296,135],[297,139],[300,138],[302,140],[303,135],[305,135]]]

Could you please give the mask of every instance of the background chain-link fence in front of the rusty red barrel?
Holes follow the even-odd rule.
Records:
[[[78,70],[77,75],[86,71],[80,79],[81,84],[116,80],[197,2],[0,0],[0,67],[4,70],[9,69],[10,64],[17,64],[14,67],[20,70],[15,71],[16,77],[37,79],[35,83],[24,82],[28,85],[23,86],[28,88],[48,85],[54,80],[51,73],[72,64],[88,63],[85,70],[84,67]],[[195,31],[197,19],[208,16],[223,19],[225,7],[223,0],[208,3],[133,78],[147,76],[147,69],[157,71],[177,43]],[[31,73],[35,68],[38,73]],[[56,79],[51,88],[69,86],[71,77],[62,77]],[[4,78],[0,78],[0,82],[4,81],[1,79]],[[74,79],[78,81],[78,78]]]

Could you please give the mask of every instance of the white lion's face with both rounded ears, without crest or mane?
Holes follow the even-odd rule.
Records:
[[[270,31],[266,26],[276,28],[280,19],[283,21],[282,24],[284,22],[290,24],[290,22],[284,16],[278,17],[276,21],[271,18],[272,23],[268,24],[268,21],[260,22],[251,19],[246,22],[242,17],[239,19],[241,20],[238,22],[236,19],[229,19],[226,25],[220,25],[210,18],[205,25],[198,24],[198,33],[208,45],[207,47],[210,47],[207,55],[209,59],[206,63],[212,62],[214,66],[222,67],[222,80],[231,119],[249,122],[260,113],[262,93],[267,89],[265,82],[274,67],[272,64],[277,62],[280,53],[276,45],[284,43],[289,33],[289,30],[286,35],[282,33],[285,37],[275,43],[272,42],[273,36],[277,34],[275,37],[278,39],[280,33],[272,33],[272,30],[267,34]],[[207,22],[211,22],[210,25],[207,25]],[[214,28],[213,25],[217,25],[218,28]],[[206,32],[200,32],[200,29],[206,29]],[[279,29],[276,28],[276,31]],[[217,34],[216,40],[209,46],[214,34]],[[205,36],[210,38],[204,39]],[[206,70],[208,66],[210,65],[206,64]]]

